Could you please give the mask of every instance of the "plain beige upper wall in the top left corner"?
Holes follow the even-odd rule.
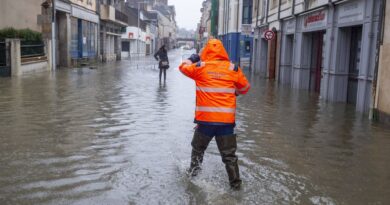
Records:
[[[1,0],[0,5],[0,29],[14,27],[16,29],[30,28],[41,32],[38,25],[38,15],[42,13],[43,0]],[[21,15],[23,14],[23,15]]]

